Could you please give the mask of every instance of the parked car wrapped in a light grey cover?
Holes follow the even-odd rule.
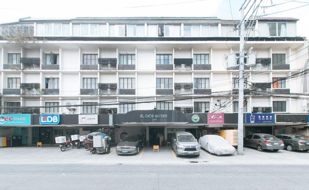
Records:
[[[236,149],[219,135],[204,135],[200,137],[198,143],[210,154],[224,155],[234,154]]]

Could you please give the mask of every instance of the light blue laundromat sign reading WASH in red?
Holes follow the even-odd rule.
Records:
[[[0,125],[31,125],[31,115],[3,114],[0,115]]]

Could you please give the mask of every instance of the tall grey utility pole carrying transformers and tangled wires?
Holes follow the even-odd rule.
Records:
[[[239,91],[238,91],[238,155],[243,155],[243,65],[244,65],[244,11],[245,6],[241,6],[240,15],[242,22],[240,23],[240,40],[239,40]]]

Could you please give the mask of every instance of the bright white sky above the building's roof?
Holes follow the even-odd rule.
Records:
[[[10,0],[2,1],[0,23],[17,21],[19,18],[75,18],[75,17],[137,17],[137,16],[216,16],[240,18],[239,7],[244,0]],[[251,0],[253,2],[253,0]],[[260,0],[256,0],[260,2]],[[281,4],[265,9],[268,17],[294,17],[300,19],[297,35],[309,37],[307,14],[309,0],[273,0]],[[270,5],[263,0],[261,5]],[[305,6],[306,5],[306,6]],[[308,6],[307,6],[308,5]],[[303,6],[303,7],[299,7]],[[299,7],[290,11],[291,8]],[[258,15],[263,14],[262,9]]]

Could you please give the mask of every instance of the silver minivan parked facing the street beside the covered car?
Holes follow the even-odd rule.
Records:
[[[171,149],[175,150],[176,156],[194,155],[200,156],[201,146],[191,133],[178,131],[171,137]]]

